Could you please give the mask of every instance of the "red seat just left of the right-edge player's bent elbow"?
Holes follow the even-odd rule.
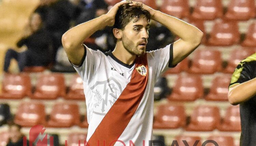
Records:
[[[219,75],[212,81],[210,93],[205,97],[207,101],[228,101],[228,86],[231,75]]]

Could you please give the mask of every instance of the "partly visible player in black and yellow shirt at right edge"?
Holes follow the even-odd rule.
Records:
[[[228,100],[240,105],[240,146],[256,145],[256,53],[242,60],[234,71],[228,89]]]

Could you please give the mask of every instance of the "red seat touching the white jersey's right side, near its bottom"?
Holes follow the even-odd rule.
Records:
[[[175,129],[185,126],[186,114],[182,105],[165,104],[158,106],[154,129]]]

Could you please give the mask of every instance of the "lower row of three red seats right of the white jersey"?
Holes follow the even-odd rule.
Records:
[[[188,123],[188,124],[186,124]],[[241,131],[239,106],[230,106],[221,120],[218,107],[197,106],[187,121],[184,106],[165,104],[158,107],[154,118],[155,129],[184,128],[187,131]]]

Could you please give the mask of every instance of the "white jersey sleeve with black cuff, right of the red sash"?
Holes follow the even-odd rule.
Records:
[[[156,77],[165,72],[168,68],[175,67],[172,65],[173,60],[173,43],[164,48],[148,52],[149,62],[155,62]]]

